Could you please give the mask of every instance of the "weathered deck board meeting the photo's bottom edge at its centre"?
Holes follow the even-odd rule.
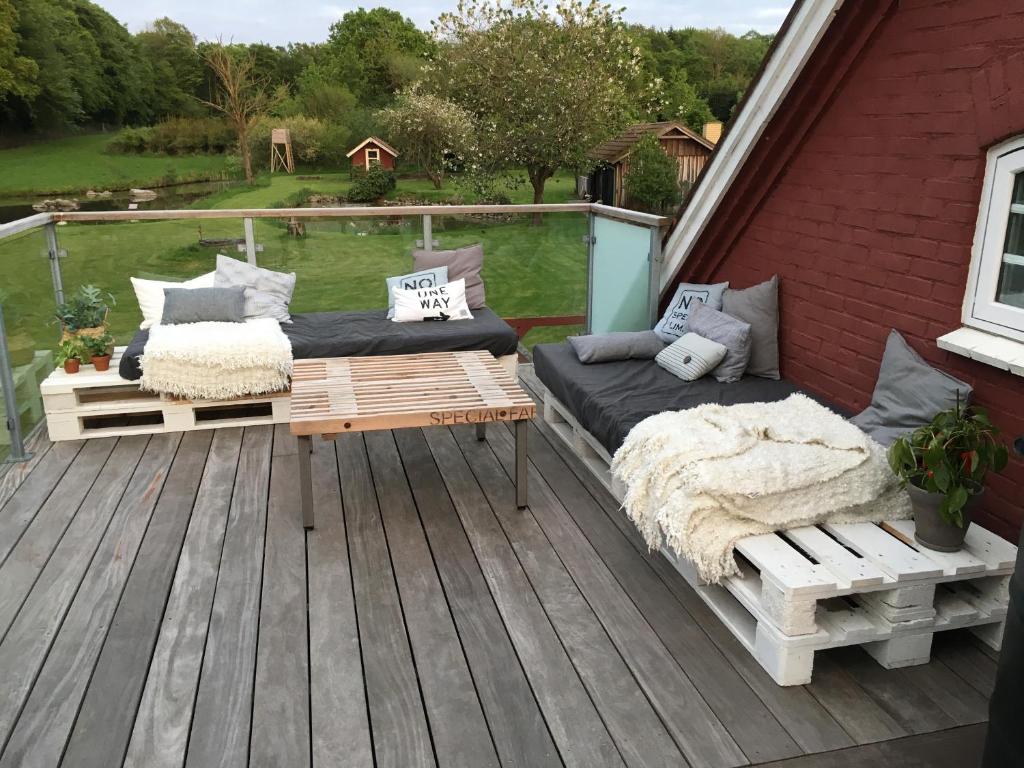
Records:
[[[395,439],[502,765],[560,766],[423,432],[399,430]]]

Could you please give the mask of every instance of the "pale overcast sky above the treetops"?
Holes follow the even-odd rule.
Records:
[[[341,0],[93,0],[118,20],[138,32],[161,16],[170,16],[200,39],[239,43],[322,42],[328,28],[360,3]],[[385,4],[401,11],[426,30],[441,11],[454,8],[455,0],[390,0],[361,3],[372,8]],[[614,3],[618,5],[618,2]],[[790,0],[628,0],[626,18],[653,27],[722,27],[741,34],[754,29],[774,32],[781,25]]]

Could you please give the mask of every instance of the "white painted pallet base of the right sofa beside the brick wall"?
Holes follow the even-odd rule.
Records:
[[[622,502],[608,452],[541,388],[544,420]],[[913,530],[900,520],[748,537],[736,543],[740,575],[721,585],[662,552],[779,685],[809,683],[814,652],[845,645],[887,668],[925,664],[941,630],[973,628],[998,650],[1017,548],[974,524],[962,551],[933,552]]]

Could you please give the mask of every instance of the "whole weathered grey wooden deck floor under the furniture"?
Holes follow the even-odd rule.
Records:
[[[309,534],[287,429],[40,442],[0,476],[0,768],[977,764],[970,635],[780,688],[547,429],[524,511],[507,425],[316,441]]]

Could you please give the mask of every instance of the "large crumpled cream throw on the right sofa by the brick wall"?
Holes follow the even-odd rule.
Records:
[[[885,449],[802,394],[652,416],[629,433],[612,471],[648,546],[667,543],[712,583],[737,572],[743,537],[910,515]]]

